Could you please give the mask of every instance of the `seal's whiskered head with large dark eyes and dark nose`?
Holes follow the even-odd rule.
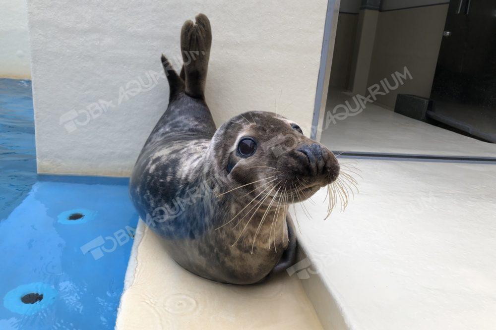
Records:
[[[247,195],[308,199],[339,175],[339,163],[327,148],[303,135],[300,126],[272,112],[250,111],[224,123],[210,145],[216,173],[230,187]],[[270,198],[267,202],[270,201]]]

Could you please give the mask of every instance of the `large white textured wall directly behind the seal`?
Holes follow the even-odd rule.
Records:
[[[169,92],[160,54],[211,21],[206,99],[216,122],[283,112],[307,134],[327,1],[29,1],[38,171],[128,175]],[[174,61],[176,68],[179,61]],[[152,75],[153,76],[153,75]],[[140,82],[141,80],[141,82]]]

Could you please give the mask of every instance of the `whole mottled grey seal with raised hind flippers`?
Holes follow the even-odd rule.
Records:
[[[169,106],[134,166],[130,195],[186,270],[251,284],[291,265],[296,238],[288,204],[335,180],[339,165],[274,113],[250,111],[216,129],[203,94],[210,45],[210,23],[199,14],[181,32],[181,75],[162,56]]]

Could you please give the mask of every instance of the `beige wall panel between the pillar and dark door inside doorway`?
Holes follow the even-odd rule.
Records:
[[[441,4],[379,12],[368,85],[404,66],[413,79],[378,96],[377,103],[394,107],[398,93],[430,96],[447,10],[448,4]]]

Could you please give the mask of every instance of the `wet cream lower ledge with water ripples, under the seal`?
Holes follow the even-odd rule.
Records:
[[[139,221],[116,329],[322,329],[296,276],[260,285],[212,282],[188,273]]]

